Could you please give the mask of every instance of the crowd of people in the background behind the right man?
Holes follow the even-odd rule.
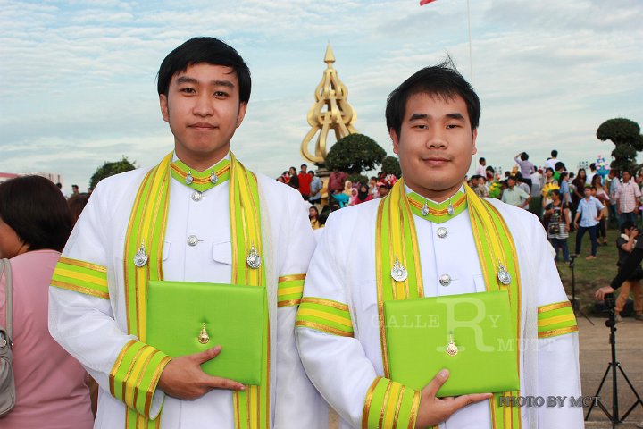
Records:
[[[586,259],[596,259],[597,248],[608,244],[608,222],[619,230],[625,223],[638,223],[643,171],[635,179],[628,171],[599,173],[592,163],[589,172],[584,168],[571,172],[556,150],[540,166],[533,164],[526,152],[514,156],[514,163],[510,170],[499,172],[480,157],[475,174],[467,182],[480,197],[497,198],[538,215],[555,249],[556,262],[567,263],[579,256],[586,235],[590,241]],[[328,204],[322,206],[324,183],[306,164],[299,172],[290,167],[277,178],[297,189],[310,203],[309,218],[315,230],[323,227],[330,212],[385,197],[397,179],[380,172],[369,181],[353,182],[347,172],[330,172]],[[573,253],[567,243],[572,231],[577,231]]]

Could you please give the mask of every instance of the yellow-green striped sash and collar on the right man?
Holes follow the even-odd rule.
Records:
[[[444,202],[436,207],[430,207],[431,218],[450,218],[469,208],[469,218],[472,223],[473,238],[480,259],[480,267],[484,276],[487,290],[508,290],[512,317],[515,326],[516,344],[520,344],[521,326],[521,287],[518,255],[511,232],[502,216],[489,202],[479,198],[471,188],[464,185],[464,196],[456,194],[453,201],[454,212],[447,215]],[[388,349],[384,324],[384,302],[391,299],[422,298],[422,265],[418,247],[417,233],[413,221],[413,213],[420,212],[423,204],[419,198],[406,195],[404,181],[397,181],[387,198],[380,201],[377,215],[377,230],[375,236],[375,265],[377,275],[377,299],[380,322],[380,341],[384,377],[390,378],[388,365]],[[426,212],[426,210],[425,210]],[[424,216],[426,217],[426,216]],[[436,222],[436,219],[432,219]],[[396,264],[403,265],[408,273],[403,282],[392,279],[391,269]],[[508,285],[498,280],[500,265],[510,274]],[[516,359],[520,364],[520,351],[516,347]],[[518,366],[520,368],[520,365]],[[494,395],[490,400],[492,425],[497,429],[513,429],[521,427],[520,409],[518,407],[501,407],[500,396],[518,396],[518,391],[505,391]],[[507,401],[507,403],[511,403]],[[367,411],[365,410],[365,413]],[[376,409],[376,412],[380,412]],[[372,421],[369,416],[364,419]],[[368,425],[368,427],[372,427]]]

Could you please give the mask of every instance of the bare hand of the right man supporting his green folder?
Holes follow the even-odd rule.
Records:
[[[475,402],[489,400],[492,396],[491,393],[473,393],[455,398],[436,398],[439,388],[447,382],[447,379],[448,371],[443,369],[422,389],[420,409],[415,420],[416,429],[438,425],[446,421],[458,409]]]

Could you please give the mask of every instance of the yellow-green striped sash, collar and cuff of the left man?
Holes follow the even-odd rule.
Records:
[[[146,294],[149,280],[163,280],[163,242],[167,227],[171,177],[178,175],[178,180],[185,179],[185,174],[181,173],[184,169],[176,168],[177,165],[180,167],[180,164],[172,164],[171,159],[170,153],[163,158],[161,164],[150,170],[142,181],[129,217],[125,240],[123,271],[127,298],[127,327],[128,332],[137,336],[139,341],[130,341],[121,351],[110,372],[110,390],[114,397],[123,400],[129,406],[125,425],[128,428],[160,427],[160,416],[154,420],[149,418],[149,399],[154,393],[163,367],[170,359],[145,344]],[[195,176],[196,186],[208,189],[211,187],[207,184],[210,172],[192,174]],[[218,183],[226,180],[230,174],[230,236],[233,256],[231,282],[265,286],[259,190],[255,174],[246,170],[232,153],[230,165],[223,163],[216,174],[219,176]],[[146,265],[138,267],[134,265],[134,257],[141,247],[145,249],[148,261]],[[251,248],[255,248],[262,257],[262,264],[258,269],[246,264],[246,257]],[[259,386],[246,386],[246,391],[233,393],[235,426],[238,429],[270,427],[270,326],[268,311],[265,314],[265,371],[262,383]],[[151,365],[155,362],[154,359],[161,360],[161,363]],[[144,383],[140,383],[141,380]],[[146,380],[151,382],[145,383]],[[146,389],[147,400],[138,404],[141,402],[138,397],[141,396],[139,390],[142,388]]]

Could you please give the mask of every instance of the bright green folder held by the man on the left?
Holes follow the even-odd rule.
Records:
[[[146,342],[171,357],[221,345],[221,353],[201,365],[204,372],[258,385],[265,303],[264,287],[150,281]]]

